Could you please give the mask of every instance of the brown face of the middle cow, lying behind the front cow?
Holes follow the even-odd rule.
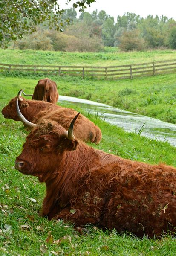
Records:
[[[26,102],[26,100],[23,97],[21,97],[21,99],[22,101],[18,101],[20,110],[22,110],[23,108],[27,108],[29,106],[29,104]],[[20,121],[16,111],[16,97],[11,99],[9,101],[9,104],[6,105],[1,112],[5,118],[10,118],[10,119],[13,119],[14,121]]]

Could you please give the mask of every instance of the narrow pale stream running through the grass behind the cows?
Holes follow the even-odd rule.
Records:
[[[103,103],[97,103],[86,99],[79,99],[69,96],[59,96],[59,102],[67,105],[75,105],[83,108],[90,113],[98,113],[105,118],[106,122],[120,126],[128,132],[141,132],[141,135],[161,140],[168,141],[176,147],[176,125],[162,122],[147,116],[141,116],[136,113],[124,111],[119,108],[114,108]]]

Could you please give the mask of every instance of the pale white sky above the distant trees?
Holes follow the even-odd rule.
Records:
[[[71,8],[75,2],[76,0],[73,0],[66,5],[66,0],[58,0],[60,7],[64,9]],[[153,15],[153,17],[164,15],[176,20],[176,0],[96,0],[85,11],[92,13],[96,9],[98,12],[104,10],[107,14],[113,16],[115,23],[117,16],[122,16],[125,12],[133,12],[144,18],[147,15]]]

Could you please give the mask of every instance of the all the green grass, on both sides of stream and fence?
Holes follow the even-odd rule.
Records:
[[[35,62],[103,66],[173,58],[176,58],[176,51],[121,53],[112,48],[93,54],[0,49],[0,62],[9,64]],[[17,95],[19,89],[32,93],[37,81],[44,78],[34,74],[13,75],[0,75],[0,110]],[[57,82],[62,95],[91,99],[176,123],[175,74],[119,81],[50,78]],[[84,114],[81,109],[77,110]],[[176,166],[176,148],[169,143],[126,133],[96,116],[85,114],[101,128],[103,134],[99,145],[92,144],[94,148],[131,160]],[[144,235],[139,239],[133,234],[118,234],[115,230],[104,232],[89,226],[85,234],[80,235],[71,224],[40,217],[45,185],[39,183],[37,178],[14,169],[15,158],[21,152],[26,134],[28,132],[22,123],[4,119],[0,114],[0,255],[175,255],[175,236],[148,239]]]

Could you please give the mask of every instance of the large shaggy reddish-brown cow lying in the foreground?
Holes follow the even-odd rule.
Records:
[[[16,158],[17,170],[46,183],[42,215],[137,236],[175,231],[176,168],[95,150],[72,127],[40,120]]]

